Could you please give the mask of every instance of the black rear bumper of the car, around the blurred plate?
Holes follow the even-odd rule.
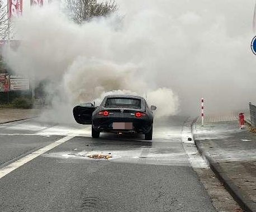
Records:
[[[113,129],[113,122],[132,122],[132,129]],[[153,125],[153,120],[148,117],[120,118],[120,117],[96,117],[92,120],[94,130],[98,132],[127,132],[127,133],[148,133]]]

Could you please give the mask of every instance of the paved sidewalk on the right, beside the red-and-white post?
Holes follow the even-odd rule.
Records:
[[[198,150],[240,206],[256,211],[256,134],[240,130],[238,120],[216,120],[203,127],[196,123]]]

